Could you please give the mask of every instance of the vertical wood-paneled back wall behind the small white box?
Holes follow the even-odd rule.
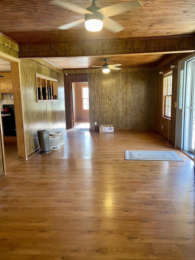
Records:
[[[125,72],[112,72],[108,75],[97,73],[101,78],[93,74],[95,73],[90,73],[90,77],[93,78],[91,88],[94,93],[99,93],[99,99],[94,93],[91,97],[92,110],[97,110],[92,111],[95,121],[111,121],[115,130],[130,130],[135,126],[151,129],[151,116],[154,116],[152,102],[155,97],[152,97],[155,94],[154,68],[131,68]]]

